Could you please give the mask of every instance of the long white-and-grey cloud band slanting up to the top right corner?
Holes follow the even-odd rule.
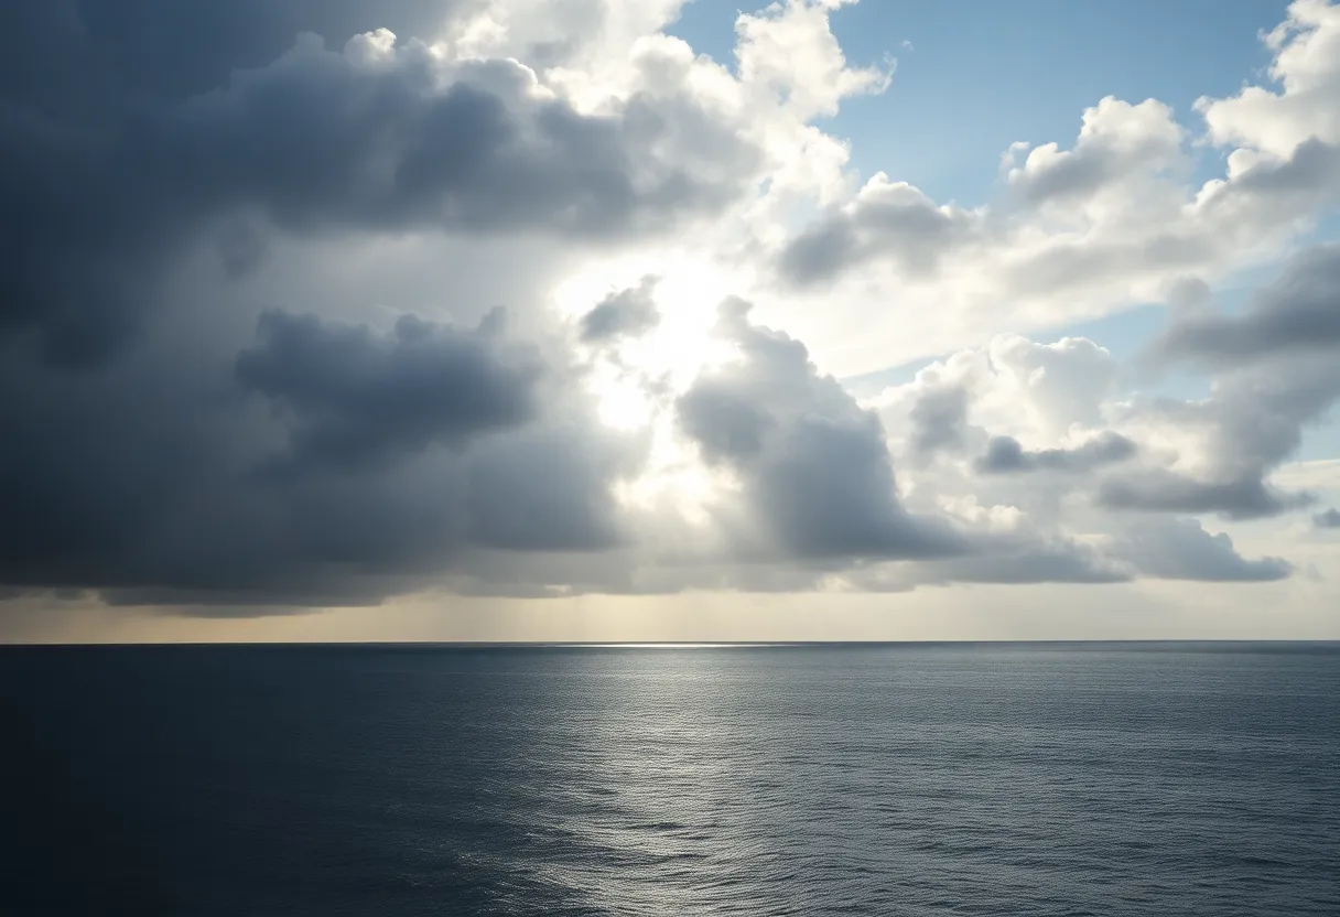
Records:
[[[1317,63],[1336,43],[1335,9],[1290,8],[1268,42],[1281,91],[1249,87],[1248,107],[1202,99],[1203,130],[1155,99],[1107,98],[1069,149],[1013,145],[986,202],[935,201],[883,173],[835,194],[768,248],[773,295],[795,303],[779,314],[821,365],[859,374],[1269,263],[1340,201],[1335,67]],[[1225,170],[1201,182],[1206,147]],[[825,322],[811,330],[815,308]]]

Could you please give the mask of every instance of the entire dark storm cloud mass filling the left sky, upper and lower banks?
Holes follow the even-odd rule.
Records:
[[[602,428],[567,345],[299,315],[320,283],[268,299],[200,267],[281,235],[328,259],[433,229],[619,244],[746,186],[752,147],[691,98],[584,115],[409,40],[466,5],[0,4],[0,585],[261,613],[626,543],[611,485],[646,444]]]

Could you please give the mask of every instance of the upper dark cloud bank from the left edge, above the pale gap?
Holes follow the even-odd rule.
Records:
[[[342,39],[308,32],[264,54],[267,29],[312,9],[280,4],[252,43],[245,20],[228,19],[222,44],[204,38],[198,54],[180,52],[194,20],[150,16],[173,48],[159,56],[141,47],[142,29],[91,28],[68,4],[5,13],[20,51],[0,83],[0,331],[38,330],[66,362],[106,355],[154,304],[165,264],[228,215],[303,233],[610,239],[725,204],[756,162],[691,102],[639,95],[584,115],[532,93],[516,63],[442,62],[414,42],[393,50],[389,34],[340,51]],[[351,9],[336,4],[310,27],[342,35]],[[411,24],[423,15],[401,12]],[[52,16],[63,25],[42,28]],[[690,135],[712,168],[661,153]]]

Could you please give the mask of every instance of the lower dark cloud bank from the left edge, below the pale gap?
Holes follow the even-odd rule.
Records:
[[[92,379],[11,347],[0,583],[268,614],[434,586],[478,550],[622,543],[610,487],[646,444],[552,357],[535,387],[501,334],[272,315],[240,361],[197,338]]]

